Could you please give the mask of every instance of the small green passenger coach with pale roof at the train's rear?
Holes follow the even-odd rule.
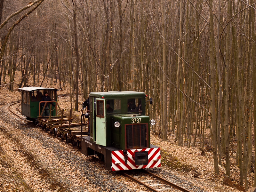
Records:
[[[58,89],[44,88],[44,87],[23,87],[19,88],[21,92],[21,112],[28,120],[33,121],[40,116],[42,107],[40,108],[40,101],[45,92],[53,101],[57,101]],[[39,113],[40,108],[40,113]],[[56,115],[56,108],[52,110],[52,116]]]

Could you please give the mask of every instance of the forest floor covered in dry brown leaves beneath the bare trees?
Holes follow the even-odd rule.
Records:
[[[9,76],[7,76],[9,77]],[[6,78],[6,82],[8,79]],[[3,84],[3,82],[1,82]],[[18,83],[19,81],[14,83],[14,91],[10,92],[8,91],[8,85],[7,86],[0,86],[0,107],[14,103],[17,101],[20,101],[20,92],[18,92]],[[40,86],[41,83],[32,84],[28,83],[28,86]],[[47,81],[43,84],[43,87],[51,87],[58,89],[59,86],[58,83],[53,83],[50,85],[50,83]],[[64,94],[69,92],[69,88],[62,87],[63,91],[58,92],[58,94]],[[70,100],[69,98],[66,100],[60,100],[61,107],[63,108],[70,108]],[[75,101],[73,100],[73,108]],[[82,99],[79,97],[79,107],[82,106]],[[69,110],[66,110],[67,112]],[[66,114],[68,115],[68,114]],[[81,112],[73,112],[73,118],[80,118]],[[0,121],[0,128],[1,128],[1,121]],[[209,130],[207,130],[209,132]],[[0,136],[2,132],[0,131]],[[219,165],[220,168],[220,174],[214,173],[214,164],[213,164],[213,155],[211,148],[209,147],[210,141],[206,140],[205,143],[207,144],[207,148],[205,149],[205,154],[201,155],[202,151],[200,150],[198,139],[196,142],[195,147],[187,148],[185,145],[183,147],[180,147],[177,145],[177,143],[174,141],[175,135],[168,133],[168,140],[163,141],[158,136],[156,136],[154,133],[151,133],[151,143],[159,146],[161,148],[161,166],[165,167],[167,169],[170,169],[172,171],[176,171],[179,174],[183,174],[187,178],[191,178],[193,180],[196,179],[196,185],[204,188],[208,192],[229,192],[229,191],[246,191],[244,188],[240,187],[239,184],[239,168],[235,164],[235,156],[234,153],[231,157],[231,181],[227,180],[225,178],[225,159],[222,158],[222,165]],[[185,139],[185,138],[184,138]],[[208,143],[207,143],[208,142]],[[8,143],[5,143],[6,146],[8,146]],[[234,143],[236,145],[236,143]],[[252,149],[254,151],[254,148]],[[12,160],[12,154],[8,154],[8,151],[5,150],[3,147],[0,146],[0,166],[2,164],[2,168],[4,167],[11,167],[10,169],[7,169],[5,171],[0,170],[0,178],[20,178],[19,175],[17,175],[17,172],[15,172],[16,168],[19,167],[17,164],[19,164],[19,161],[13,161]],[[26,170],[26,169],[25,169]],[[24,171],[24,170],[23,170]],[[28,170],[29,172],[29,170]],[[16,174],[16,175],[15,175]],[[31,174],[31,173],[30,173]],[[23,178],[25,180],[25,178]],[[253,186],[253,179],[254,179],[254,173],[248,174],[248,182],[249,182],[249,188]],[[1,181],[1,180],[0,180]],[[27,186],[26,182],[24,183],[24,189],[23,191],[31,191],[31,188]],[[7,183],[8,184],[8,183]],[[0,192],[4,192],[3,188],[5,183],[0,182]],[[8,184],[8,185],[15,185],[15,183]],[[206,187],[207,186],[207,187]],[[8,191],[8,190],[6,190]]]

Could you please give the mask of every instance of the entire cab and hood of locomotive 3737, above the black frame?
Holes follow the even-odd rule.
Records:
[[[149,145],[149,117],[145,115],[145,93],[97,92],[90,93],[89,98],[92,106],[90,108],[90,140],[92,142],[120,149]],[[131,134],[134,138],[131,138]],[[136,140],[141,139],[143,141],[139,145],[139,141]],[[134,143],[131,143],[132,140]]]

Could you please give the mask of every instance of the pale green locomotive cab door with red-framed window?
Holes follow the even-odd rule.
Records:
[[[106,146],[105,99],[96,99],[96,144]]]

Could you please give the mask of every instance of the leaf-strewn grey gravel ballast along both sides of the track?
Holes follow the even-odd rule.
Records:
[[[86,157],[39,127],[20,120],[8,111],[8,106],[1,107],[0,114],[1,145],[31,188],[23,191],[148,191],[118,172],[106,170],[96,157]],[[166,168],[149,171],[191,191],[207,192]]]

